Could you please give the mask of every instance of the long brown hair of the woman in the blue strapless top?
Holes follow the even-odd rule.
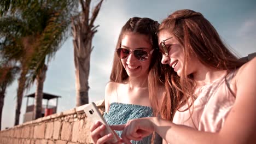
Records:
[[[129,19],[119,34],[118,43],[115,49],[118,49],[121,46],[121,41],[125,34],[127,33],[136,33],[147,35],[152,48],[155,49],[152,53],[152,59],[149,66],[148,74],[148,88],[149,88],[149,99],[152,101],[152,107],[154,113],[156,112],[156,107],[158,107],[158,95],[159,86],[164,87],[164,73],[162,73],[162,64],[161,64],[161,54],[159,52],[158,46],[158,35],[157,31],[159,28],[159,23],[147,17],[132,17]],[[163,75],[163,76],[161,76]],[[112,82],[123,82],[128,77],[126,70],[124,69],[121,59],[118,57],[117,52],[114,53],[114,61],[112,65],[112,72],[110,74],[110,81]],[[161,80],[162,79],[162,80]],[[154,101],[154,100],[155,101]]]

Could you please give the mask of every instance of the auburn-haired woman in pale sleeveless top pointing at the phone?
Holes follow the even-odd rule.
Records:
[[[175,93],[173,121],[159,117],[132,119],[124,125],[125,143],[156,131],[167,143],[255,143],[256,58],[238,61],[216,29],[193,10],[177,10],[159,27],[162,64]]]

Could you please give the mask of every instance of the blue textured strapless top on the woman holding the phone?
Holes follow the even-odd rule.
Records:
[[[111,103],[108,113],[104,112],[104,118],[108,125],[126,124],[130,119],[152,117],[153,109],[149,106]],[[120,137],[122,131],[115,131]],[[144,137],[141,141],[131,141],[133,144],[151,143],[152,135]]]

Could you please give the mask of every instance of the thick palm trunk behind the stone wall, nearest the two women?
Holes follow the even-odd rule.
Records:
[[[72,34],[74,45],[74,63],[75,63],[75,86],[77,93],[77,106],[88,104],[88,77],[90,71],[90,55],[92,51],[92,38],[97,32],[94,21],[100,11],[103,0],[98,2],[91,17],[90,0],[80,0],[82,12],[72,19]]]

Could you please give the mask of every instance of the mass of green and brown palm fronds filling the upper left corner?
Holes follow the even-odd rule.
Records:
[[[76,0],[1,0],[0,52],[2,62],[27,67],[27,86],[69,36]]]

